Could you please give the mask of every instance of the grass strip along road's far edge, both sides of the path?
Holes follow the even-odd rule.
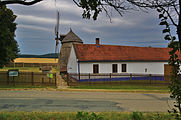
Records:
[[[15,89],[43,89],[43,90],[55,90],[57,87],[55,86],[23,86],[23,85],[16,85],[16,86],[7,86],[7,85],[0,85],[0,90],[15,90]],[[108,91],[125,91],[125,92],[157,92],[157,93],[168,93],[169,88],[167,86],[131,86],[131,85],[123,85],[123,86],[108,86],[108,85],[101,85],[101,86],[72,86],[68,90],[108,90]]]

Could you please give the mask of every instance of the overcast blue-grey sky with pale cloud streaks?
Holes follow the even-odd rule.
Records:
[[[21,54],[46,54],[55,51],[54,27],[56,10],[60,11],[60,33],[72,28],[85,44],[167,47],[154,11],[125,13],[123,17],[112,11],[110,19],[101,13],[97,21],[82,19],[82,9],[72,0],[44,0],[33,6],[8,5],[17,15],[16,40]]]

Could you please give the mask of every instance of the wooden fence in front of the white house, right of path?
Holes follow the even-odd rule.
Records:
[[[139,84],[168,85],[169,76],[162,74],[67,74],[66,81],[70,86],[94,84]]]

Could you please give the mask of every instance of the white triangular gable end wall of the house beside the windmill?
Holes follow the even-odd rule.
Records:
[[[67,72],[68,73],[78,73],[77,57],[75,55],[75,50],[73,49],[73,45],[72,45],[70,56],[68,59]]]

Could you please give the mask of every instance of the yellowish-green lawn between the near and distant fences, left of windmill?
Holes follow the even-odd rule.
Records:
[[[20,72],[42,72],[39,67],[4,67],[0,71],[8,71],[9,69],[19,69]],[[51,72],[55,73],[58,70],[53,67]]]

